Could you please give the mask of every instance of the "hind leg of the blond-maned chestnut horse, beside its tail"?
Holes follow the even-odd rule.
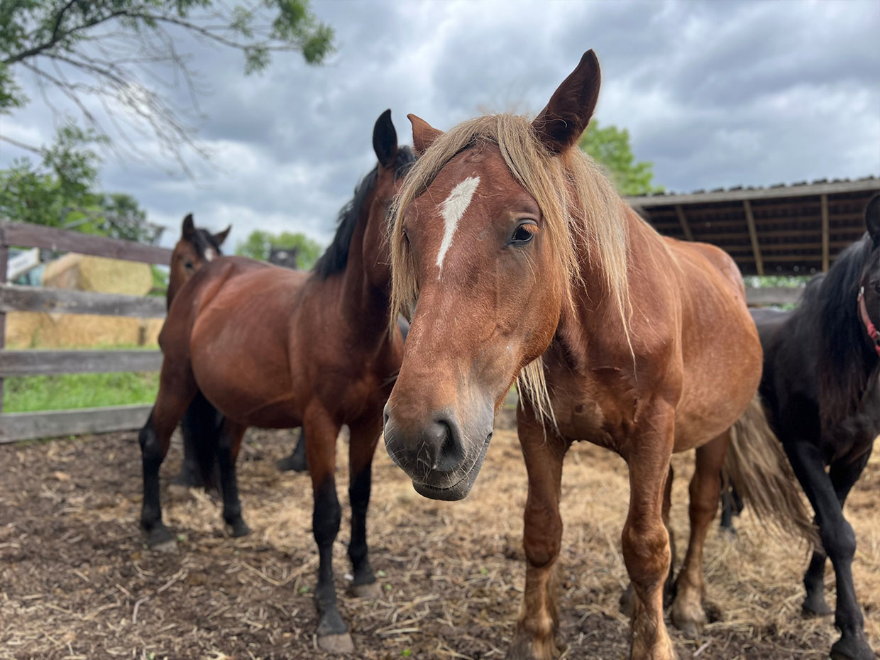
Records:
[[[703,582],[703,545],[715,511],[718,510],[718,489],[721,469],[727,453],[728,433],[697,448],[696,466],[691,480],[691,539],[685,563],[676,580],[672,623],[688,637],[696,637],[708,623],[703,609],[706,586]]]

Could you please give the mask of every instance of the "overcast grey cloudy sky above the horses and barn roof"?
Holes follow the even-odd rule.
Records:
[[[594,48],[596,117],[628,128],[656,182],[691,191],[880,174],[880,2],[355,2],[313,4],[334,27],[326,66],[282,55],[246,77],[238,53],[177,44],[209,92],[199,136],[214,154],[194,180],[108,158],[108,191],[174,227],[304,231],[326,243],[337,210],[375,163],[385,108],[437,128],[486,111],[534,114]],[[57,117],[28,77],[6,136],[48,141]],[[180,92],[182,93],[182,92]],[[64,107],[59,100],[59,106]],[[149,144],[142,145],[150,150]],[[0,142],[0,167],[24,155]]]

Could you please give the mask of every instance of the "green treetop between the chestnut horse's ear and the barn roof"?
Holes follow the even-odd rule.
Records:
[[[662,186],[655,186],[654,165],[634,162],[633,150],[629,146],[629,131],[616,126],[599,128],[598,121],[590,121],[578,143],[600,165],[605,167],[620,194],[648,194],[663,192]]]

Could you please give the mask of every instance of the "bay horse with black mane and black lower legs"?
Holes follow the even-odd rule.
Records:
[[[356,596],[381,594],[370,568],[366,515],[382,407],[400,368],[403,341],[387,326],[390,266],[385,216],[414,161],[398,147],[391,111],[373,130],[378,165],[340,213],[333,243],[311,273],[241,257],[220,257],[196,272],[172,302],[160,336],[159,391],[140,433],[141,526],[150,547],[173,542],[162,521],[158,470],[174,427],[202,392],[224,416],[217,437],[224,520],[247,532],[238,501],[235,459],[248,426],[302,426],[312,477],[312,527],[319,550],[318,643],[353,649],[336,605],[333,544],[341,509],[334,480],[336,436],[348,424],[348,495]]]

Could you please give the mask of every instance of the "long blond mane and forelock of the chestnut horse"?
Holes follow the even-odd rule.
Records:
[[[627,340],[631,304],[627,286],[627,227],[620,218],[620,195],[598,165],[572,148],[561,156],[546,150],[532,121],[512,114],[488,114],[464,121],[437,136],[407,174],[391,213],[392,259],[391,323],[399,312],[409,312],[418,297],[413,255],[400,226],[403,209],[428,189],[444,165],[466,147],[495,144],[519,185],[538,202],[546,235],[566,273],[564,304],[574,311],[573,291],[583,285],[583,267],[577,246],[587,246],[590,266],[602,274],[605,295],[617,308]],[[518,389],[545,422],[555,425],[553,407],[541,359],[521,370]]]

